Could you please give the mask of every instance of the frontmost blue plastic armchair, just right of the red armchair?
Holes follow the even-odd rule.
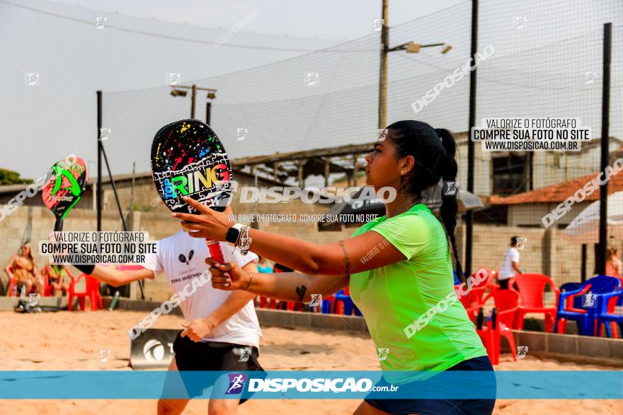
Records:
[[[574,312],[565,310],[566,299],[569,296],[575,296],[581,293],[588,285],[590,285],[587,293],[595,295],[595,303],[591,306],[585,306],[581,304],[581,308],[586,312]],[[593,278],[585,281],[578,289],[567,291],[566,293],[560,293],[558,302],[558,312],[556,313],[556,327],[561,319],[575,321],[578,325],[578,332],[581,336],[593,336],[595,335],[595,320],[600,314],[602,303],[606,304],[607,300],[604,300],[604,296],[610,293],[614,293],[621,290],[621,281],[612,276],[594,276]],[[585,297],[579,297],[582,300]],[[576,304],[573,300],[574,306]],[[607,325],[606,325],[607,326]]]

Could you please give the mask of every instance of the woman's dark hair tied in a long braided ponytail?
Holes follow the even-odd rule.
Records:
[[[440,180],[457,179],[458,166],[455,160],[457,144],[450,131],[441,128],[433,129],[425,122],[413,120],[394,122],[387,129],[389,141],[396,147],[396,156],[398,158],[413,156],[416,160],[413,170],[402,177],[399,192],[413,194],[420,198],[424,189],[437,185]],[[459,209],[457,198],[445,196],[442,192],[441,200],[439,214],[450,238],[457,276],[464,282],[465,276],[455,240]]]

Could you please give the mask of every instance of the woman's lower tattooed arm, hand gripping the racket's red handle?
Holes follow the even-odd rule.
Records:
[[[246,290],[258,296],[276,300],[308,303],[312,294],[330,296],[348,286],[349,276],[306,275],[298,272],[279,272],[277,274],[250,273],[241,269],[235,262],[217,264],[208,257],[205,263],[210,266],[212,287],[224,291]]]

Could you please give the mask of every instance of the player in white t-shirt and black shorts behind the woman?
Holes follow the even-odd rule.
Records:
[[[258,256],[253,252],[241,255],[239,250],[219,242],[226,262],[244,264],[243,269],[258,272]],[[120,271],[102,265],[87,266],[86,274],[112,286],[129,284],[140,279],[154,279],[166,273],[171,290],[179,293],[193,279],[209,272],[205,258],[210,257],[205,240],[192,238],[180,230],[158,242],[157,254],[147,255],[143,269]],[[93,267],[91,270],[90,267]],[[79,267],[82,269],[85,267]],[[84,270],[84,269],[83,269]],[[228,292],[204,284],[180,304],[186,320],[173,342],[175,356],[168,370],[261,370],[258,363],[259,339],[262,336],[253,305],[254,294],[246,291]],[[167,385],[167,382],[168,385]],[[165,390],[173,389],[178,378],[168,377]],[[192,397],[202,394],[205,387],[188,382],[188,399],[159,399],[158,414],[181,414]],[[247,399],[210,399],[208,414],[236,414],[238,405]]]

